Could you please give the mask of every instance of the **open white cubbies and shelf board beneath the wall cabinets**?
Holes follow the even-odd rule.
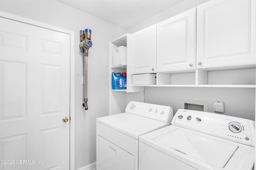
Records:
[[[199,70],[183,73],[157,73],[151,87],[220,87],[256,88],[255,68],[232,70]],[[145,86],[145,85],[133,85]]]

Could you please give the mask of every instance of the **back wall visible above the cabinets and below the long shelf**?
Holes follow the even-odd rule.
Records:
[[[144,29],[207,1],[184,0],[180,4],[129,27],[128,33]],[[181,107],[181,99],[208,102],[208,111],[210,112],[213,112],[214,101],[224,101],[224,114],[255,120],[254,88],[145,87],[144,102],[172,106],[174,113]]]

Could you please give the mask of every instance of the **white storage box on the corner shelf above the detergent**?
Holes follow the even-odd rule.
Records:
[[[112,51],[113,66],[125,65],[126,60],[126,47],[120,46]]]

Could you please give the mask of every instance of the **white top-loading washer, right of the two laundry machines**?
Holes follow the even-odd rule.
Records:
[[[252,170],[254,121],[179,109],[172,125],[140,136],[139,170]]]

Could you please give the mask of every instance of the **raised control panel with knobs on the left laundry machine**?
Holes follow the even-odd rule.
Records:
[[[142,102],[130,101],[126,106],[125,112],[166,123],[171,122],[173,118],[172,107]]]

